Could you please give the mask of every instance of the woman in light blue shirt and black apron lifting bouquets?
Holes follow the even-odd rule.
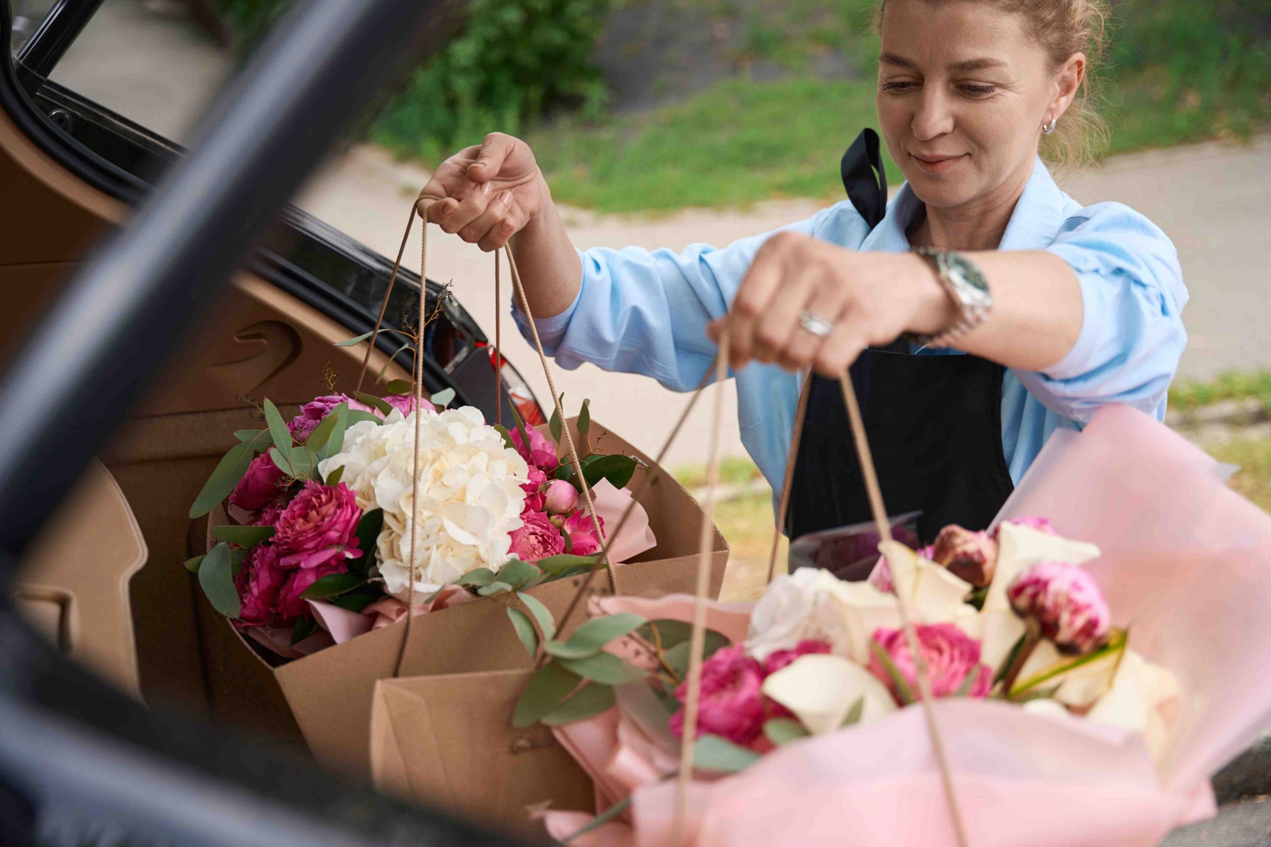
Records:
[[[1166,235],[1118,203],[1083,208],[1038,157],[1074,156],[1092,123],[1098,0],[885,0],[878,19],[878,123],[907,180],[885,213],[872,133],[844,156],[849,201],[721,250],[576,251],[533,152],[503,135],[425,188],[446,198],[430,210],[445,231],[484,250],[515,235],[564,367],[689,390],[731,310],[742,441],[774,488],[810,368],[792,537],[869,518],[831,382],[849,364],[887,507],[921,509],[929,538],[986,526],[1055,429],[1108,403],[1162,418],[1186,343]]]

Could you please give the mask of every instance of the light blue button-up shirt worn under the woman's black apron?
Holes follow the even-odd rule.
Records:
[[[905,251],[905,230],[920,208],[906,183],[873,231],[849,201],[783,229],[853,250]],[[690,391],[716,353],[707,324],[726,312],[770,235],[723,249],[694,244],[679,254],[639,248],[580,251],[582,287],[573,305],[535,321],[544,348],[564,368],[592,362]],[[1080,429],[1104,404],[1124,403],[1164,419],[1166,392],[1187,343],[1181,317],[1187,288],[1166,234],[1121,203],[1082,207],[1038,159],[1000,249],[1049,250],[1064,259],[1080,282],[1084,307],[1080,335],[1063,361],[1045,371],[1007,372],[1002,451],[1012,479],[1018,484],[1055,429]],[[524,316],[513,315],[524,334]],[[799,377],[756,362],[736,380],[742,443],[779,490]]]

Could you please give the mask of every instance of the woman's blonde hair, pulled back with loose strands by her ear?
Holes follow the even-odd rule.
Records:
[[[953,0],[924,0],[932,5]],[[1104,0],[958,0],[990,3],[1002,11],[1018,14],[1028,36],[1050,56],[1055,70],[1073,53],[1085,53],[1085,72],[1068,110],[1051,135],[1041,137],[1041,156],[1051,165],[1085,165],[1094,161],[1107,145],[1107,122],[1099,114],[1099,88],[1094,70],[1107,44],[1108,8]],[[887,0],[878,3],[878,30],[882,32]]]

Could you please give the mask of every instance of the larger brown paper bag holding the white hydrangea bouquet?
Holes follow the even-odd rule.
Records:
[[[606,453],[638,456],[649,466],[648,471],[641,472],[653,474],[657,479],[639,497],[657,536],[657,546],[618,566],[619,590],[637,597],[693,593],[702,508],[648,456],[595,420],[591,441]],[[728,561],[728,545],[718,530],[713,550],[710,596],[716,597]],[[592,584],[604,587],[606,579],[605,574],[597,574]],[[531,588],[527,593],[541,601],[559,620],[581,580],[581,577],[562,579]],[[201,618],[206,620],[207,615],[216,613],[203,601]],[[576,612],[562,635],[567,636],[583,620],[586,616]],[[221,618],[219,627],[222,631],[228,627],[230,637],[207,637],[207,629],[203,627],[214,712],[286,735],[290,719],[280,707],[282,700],[275,693],[275,687],[281,688],[281,696],[291,707],[295,723],[318,762],[366,777],[370,775],[367,725],[375,683],[393,676],[404,626],[404,622],[386,626],[272,667],[254,645]],[[503,604],[497,598],[489,598],[416,617],[411,625],[402,677],[529,667],[530,659]],[[226,690],[226,686],[238,691]]]

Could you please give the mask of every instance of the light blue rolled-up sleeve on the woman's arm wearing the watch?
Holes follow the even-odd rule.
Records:
[[[1112,403],[1160,418],[1187,345],[1187,288],[1173,244],[1134,210],[1099,203],[1069,217],[1047,250],[1077,273],[1082,331],[1061,361],[1017,372],[1019,381],[1082,424]]]

